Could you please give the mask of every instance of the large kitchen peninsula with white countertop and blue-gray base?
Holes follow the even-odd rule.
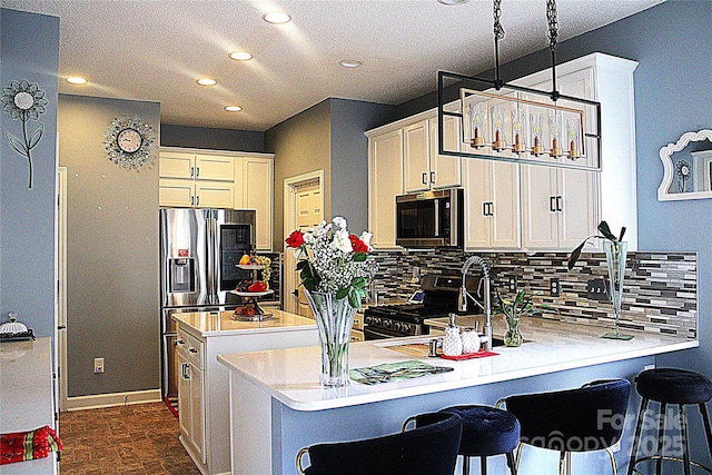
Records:
[[[494,405],[511,394],[633,378],[654,364],[654,355],[698,346],[694,339],[642,331],[630,342],[602,339],[607,328],[544,318],[527,318],[521,328],[531,340],[522,347],[495,347],[496,356],[462,362],[397,350],[398,345],[427,343],[423,337],[353,344],[352,368],[421,359],[454,370],[373,386],[352,382],[338,390],[319,386],[318,347],[220,355],[218,360],[230,369],[233,473],[294,474],[297,452],[310,444],[395,433],[408,416],[449,405]],[[494,333],[504,333],[503,319],[494,319]],[[621,453],[630,449],[629,441],[626,434]],[[583,473],[600,473],[602,461],[586,458]],[[491,473],[500,473],[498,464],[492,465]]]

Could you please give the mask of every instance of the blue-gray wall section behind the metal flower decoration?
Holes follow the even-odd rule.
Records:
[[[55,333],[55,197],[57,167],[57,70],[59,18],[0,9],[0,83],[27,80],[44,91],[48,103],[31,133],[44,131],[29,165],[8,145],[6,132],[22,139],[22,121],[0,112],[0,321],[8,311],[38,336]]]

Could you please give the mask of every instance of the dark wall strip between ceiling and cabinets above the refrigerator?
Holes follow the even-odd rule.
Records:
[[[161,123],[160,145],[164,147],[261,152],[265,151],[265,133]]]

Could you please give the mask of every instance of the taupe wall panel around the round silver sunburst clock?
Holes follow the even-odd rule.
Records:
[[[150,125],[158,144],[158,102],[59,96],[71,397],[160,387],[158,150],[140,171],[109,160],[105,131],[121,116]]]

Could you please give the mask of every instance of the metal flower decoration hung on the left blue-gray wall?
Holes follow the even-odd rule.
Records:
[[[32,188],[32,156],[31,150],[39,144],[44,131],[44,125],[40,123],[32,132],[28,133],[28,121],[39,120],[41,113],[46,112],[47,99],[44,91],[37,83],[27,80],[10,81],[7,88],[2,88],[2,111],[8,112],[11,120],[22,121],[22,139],[10,132],[4,132],[4,138],[10,147],[22,157],[27,158],[29,166],[29,185]]]

